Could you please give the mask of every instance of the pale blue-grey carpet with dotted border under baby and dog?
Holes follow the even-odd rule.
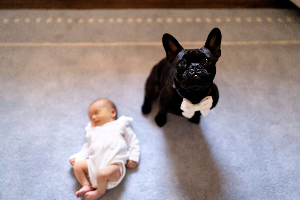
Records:
[[[220,99],[199,125],[141,106],[161,38],[199,48],[214,28]],[[0,10],[0,199],[77,199],[69,157],[107,97],[140,163],[101,199],[300,199],[300,11]]]

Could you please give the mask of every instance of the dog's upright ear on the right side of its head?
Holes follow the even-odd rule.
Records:
[[[207,37],[205,48],[209,49],[218,60],[221,56],[222,34],[219,28],[214,28]]]

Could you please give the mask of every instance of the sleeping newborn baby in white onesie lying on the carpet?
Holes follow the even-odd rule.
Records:
[[[122,181],[126,163],[130,168],[137,166],[140,147],[129,125],[133,119],[125,116],[117,119],[116,106],[110,100],[95,100],[88,116],[91,122],[85,128],[87,142],[78,154],[70,157],[70,164],[82,185],[76,196],[92,200]]]

